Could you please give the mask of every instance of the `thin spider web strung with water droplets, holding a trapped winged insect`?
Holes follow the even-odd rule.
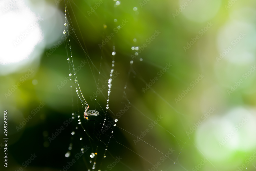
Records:
[[[141,66],[164,67],[146,63],[138,53],[138,57],[133,59],[130,54],[115,52],[119,48],[118,44],[115,45],[119,39],[117,36],[108,43],[112,44],[112,49],[103,47],[101,55],[92,58],[85,46],[80,21],[75,15],[76,10],[81,13],[83,10],[72,1],[64,3],[66,24],[63,34],[66,37],[69,76],[74,76],[71,93],[76,95],[72,98],[71,115],[76,123],[69,145],[67,142],[67,161],[75,159],[80,153],[83,160],[78,159],[80,162],[76,168],[79,170],[190,170],[183,152],[191,147],[201,151],[184,134],[187,130],[183,124],[188,122],[189,116],[177,111],[152,87],[145,93],[155,104],[158,101],[165,104],[170,113],[159,114],[159,106],[147,106],[147,102],[136,93],[141,93],[141,88],[137,87],[147,84],[141,74]],[[127,48],[131,46],[127,44]],[[78,73],[75,69],[79,65],[76,58],[80,50],[88,64],[87,72],[82,70]],[[134,52],[138,49],[131,54]],[[134,84],[140,86],[134,87]],[[87,87],[95,91],[88,92]],[[88,105],[88,110],[99,111],[99,115],[88,116],[89,120],[85,120],[83,113]],[[184,130],[182,134],[173,126],[162,126],[162,119],[167,115],[174,115],[174,119],[180,121],[176,129]]]

